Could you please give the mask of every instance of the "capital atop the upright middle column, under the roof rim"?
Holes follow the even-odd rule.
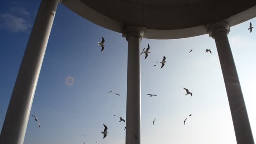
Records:
[[[142,40],[142,36],[144,34],[144,29],[142,27],[127,27],[123,31],[122,37],[125,37],[126,40],[129,39],[131,36],[137,36]]]

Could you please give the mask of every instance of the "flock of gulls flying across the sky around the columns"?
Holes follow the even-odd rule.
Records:
[[[248,28],[248,30],[250,30],[250,32],[252,32],[252,29],[253,29],[253,27],[252,27],[252,24],[251,24],[251,22],[250,22],[250,26],[249,26],[249,28]],[[100,42],[98,42],[98,45],[101,45],[101,52],[103,52],[103,50],[104,50],[104,42],[105,42],[105,40],[104,40],[104,37],[102,37],[102,40],[101,40],[101,43]],[[143,54],[143,53],[145,53],[145,58],[144,59],[147,59],[147,57],[148,57],[148,55],[149,55],[149,53],[150,53],[150,51],[149,51],[149,44],[147,45],[147,49],[146,49],[146,51],[145,51],[145,48],[143,48],[143,50],[142,50],[142,52],[141,52],[141,55]],[[191,53],[193,51],[193,49],[191,49],[190,51],[189,51],[189,53]],[[208,53],[208,52],[210,52],[211,53],[211,50],[210,49],[206,49],[205,50],[205,53]],[[160,62],[160,64],[162,64],[162,66],[161,66],[161,68],[160,69],[162,69],[163,68],[163,66],[165,65],[165,62],[167,62],[167,61],[165,61],[165,56],[163,56],[163,60]],[[155,65],[153,66],[153,67],[155,67],[156,66],[156,64],[158,63],[158,61],[155,63]],[[189,90],[187,89],[187,88],[184,88],[184,90],[186,91],[186,94],[185,95],[190,95],[190,96],[192,96],[192,92],[189,92]],[[107,92],[107,93],[112,93],[113,91],[109,91],[109,92]],[[118,93],[114,93],[116,96],[121,96],[120,94],[118,94]],[[148,93],[147,95],[149,95],[150,97],[152,97],[152,96],[157,96],[157,95],[155,95],[155,94],[150,94],[150,93]],[[116,115],[114,115],[114,116],[116,116]],[[191,114],[189,115],[189,117],[190,116],[192,116]],[[40,122],[39,122],[39,120],[38,120],[38,118],[35,116],[35,115],[32,115],[32,117],[34,117],[35,118],[35,121],[37,122],[37,124],[38,124],[38,126],[39,126],[39,128],[40,128]],[[119,122],[124,122],[125,123],[125,120],[122,118],[122,117],[119,117],[120,118],[120,121]],[[153,120],[153,125],[155,124],[155,120],[156,120],[156,118]],[[183,125],[185,125],[185,122],[186,122],[186,120],[187,120],[187,118],[183,121]],[[105,124],[103,124],[103,126],[104,126],[104,131],[102,131],[101,133],[103,134],[103,139],[105,138],[105,137],[107,137],[107,130],[108,130],[108,128],[107,128],[107,126],[105,125]],[[125,129],[126,129],[126,126],[125,126],[125,128],[124,128],[124,131],[125,131]],[[82,135],[82,136],[85,136],[85,135]],[[98,141],[96,141],[96,143],[97,143]],[[85,144],[85,142],[83,142],[83,144]]]

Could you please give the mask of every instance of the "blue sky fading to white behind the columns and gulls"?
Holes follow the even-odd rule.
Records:
[[[24,0],[0,6],[0,129],[39,5],[40,0]],[[231,27],[229,42],[255,137],[256,31],[247,30],[249,22],[256,24],[256,19]],[[97,45],[101,36],[106,40],[103,53]],[[141,143],[235,144],[214,40],[208,35],[143,39],[141,49],[148,43],[151,53],[146,60],[141,57]],[[212,55],[205,53],[206,48]],[[163,56],[165,67],[152,67]],[[60,4],[31,110],[41,128],[30,117],[24,144],[124,144],[125,124],[119,123],[118,117],[126,116],[126,74],[125,38]],[[74,77],[74,85],[65,84],[69,76]],[[185,96],[183,87],[192,91],[193,97]],[[158,96],[149,98],[147,93]],[[109,128],[106,139],[102,139],[102,123]]]

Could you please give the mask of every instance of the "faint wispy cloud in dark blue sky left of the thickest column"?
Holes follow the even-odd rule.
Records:
[[[31,24],[20,16],[14,16],[10,13],[0,14],[0,28],[8,29],[11,32],[23,32],[26,31]]]

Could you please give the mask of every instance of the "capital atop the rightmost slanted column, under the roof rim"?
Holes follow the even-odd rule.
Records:
[[[228,35],[230,32],[229,23],[227,20],[219,21],[213,24],[206,25],[207,31],[210,37],[214,39],[214,35],[218,32],[226,32]]]

